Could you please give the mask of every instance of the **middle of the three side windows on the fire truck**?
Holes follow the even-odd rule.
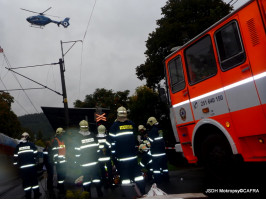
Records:
[[[210,36],[206,36],[185,50],[188,79],[191,85],[217,72]]]

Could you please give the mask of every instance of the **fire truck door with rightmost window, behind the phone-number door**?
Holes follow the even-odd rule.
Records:
[[[245,137],[265,133],[265,117],[240,32],[236,18],[216,31],[215,41],[233,127]]]

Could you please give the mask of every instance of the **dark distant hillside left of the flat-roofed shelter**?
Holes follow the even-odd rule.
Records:
[[[43,113],[24,115],[18,119],[22,127],[30,129],[35,135],[41,132],[43,139],[54,135],[54,130]]]

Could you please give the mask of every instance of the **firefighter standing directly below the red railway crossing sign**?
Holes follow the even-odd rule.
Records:
[[[105,187],[111,186],[113,183],[112,176],[112,162],[111,162],[111,143],[108,135],[106,135],[106,128],[100,125],[97,128],[96,135],[99,144],[99,166],[101,169],[102,182]]]

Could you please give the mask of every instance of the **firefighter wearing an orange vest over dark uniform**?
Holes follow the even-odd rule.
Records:
[[[52,141],[52,154],[57,173],[57,188],[60,195],[65,195],[66,146],[63,141],[64,132],[63,128],[57,128],[55,138]]]

